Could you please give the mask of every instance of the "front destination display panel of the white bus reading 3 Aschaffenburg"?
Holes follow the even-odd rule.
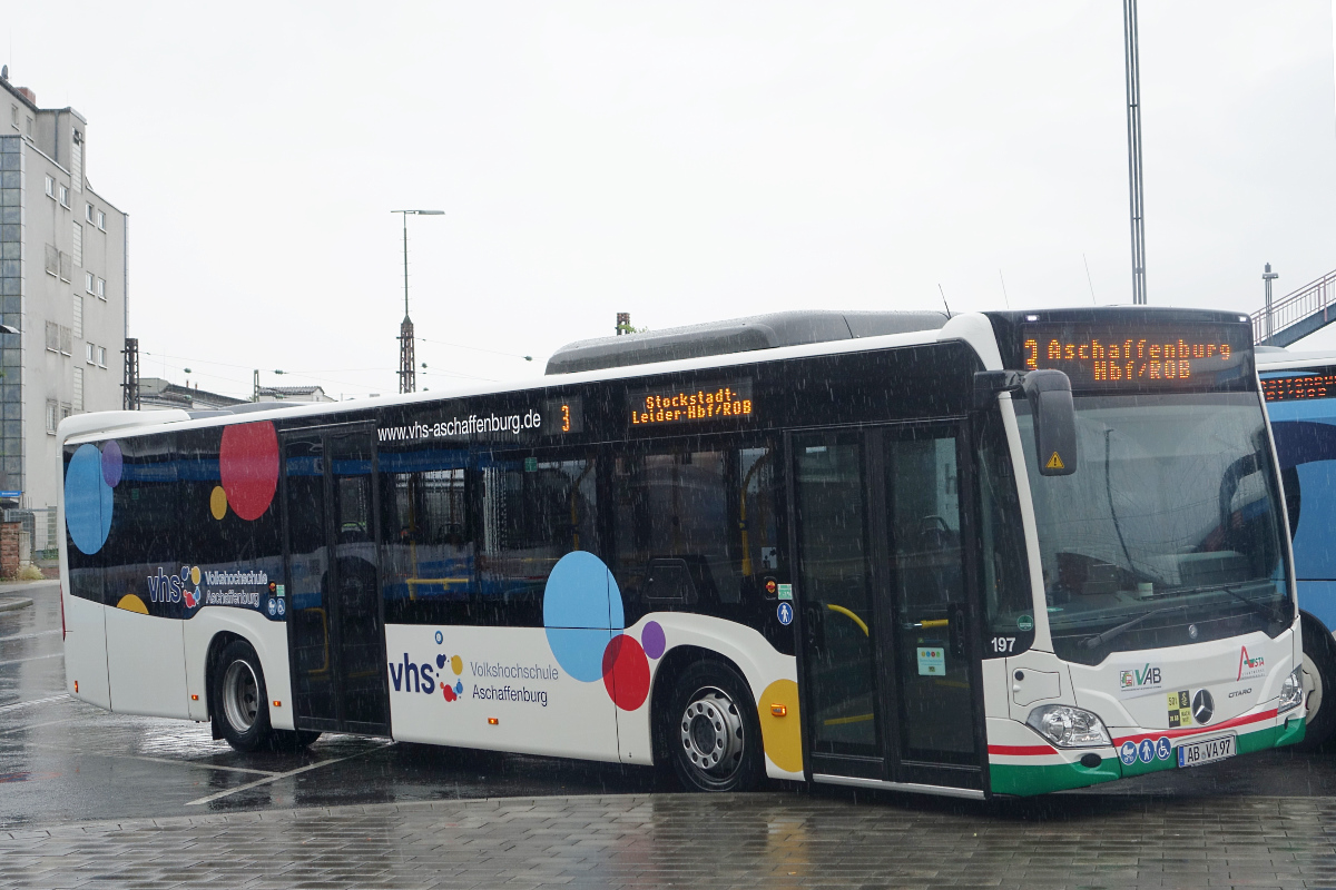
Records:
[[[1073,386],[1130,384],[1170,388],[1214,383],[1221,371],[1240,368],[1241,346],[1225,328],[1193,331],[1117,330],[1098,334],[1079,326],[1031,324],[1022,328],[1025,370],[1054,368]]]

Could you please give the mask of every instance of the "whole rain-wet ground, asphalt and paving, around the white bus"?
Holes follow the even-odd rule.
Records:
[[[1121,863],[1118,879],[1078,882],[1089,886],[1333,886],[1336,882],[1336,847],[1331,841],[1336,829],[1327,827],[1336,818],[1336,751],[1275,751],[1206,769],[994,805],[792,785],[772,786],[770,794],[679,795],[671,781],[645,769],[339,735],[322,737],[302,753],[238,754],[226,742],[211,739],[207,725],[122,717],[67,697],[57,590],[55,582],[0,587],[0,604],[16,596],[33,600],[32,606],[0,611],[3,886],[59,887],[90,882],[108,886],[116,874],[127,878],[131,873],[148,879],[150,873],[158,874],[148,863],[159,862],[163,854],[159,841],[167,835],[192,838],[192,845],[203,845],[192,847],[195,854],[204,855],[211,842],[244,849],[261,823],[269,826],[266,831],[278,834],[305,826],[301,831],[309,831],[311,843],[326,845],[323,858],[314,853],[303,859],[262,858],[254,867],[243,858],[228,866],[231,871],[208,873],[207,879],[226,878],[231,886],[251,886],[251,881],[254,886],[295,886],[281,879],[267,882],[275,869],[282,871],[297,863],[321,866],[310,874],[301,873],[309,886],[379,883],[371,881],[373,871],[358,871],[358,861],[347,857],[346,845],[362,843],[362,835],[377,837],[382,841],[370,847],[363,845],[366,855],[374,851],[383,858],[389,845],[406,857],[409,847],[420,843],[418,833],[436,826],[433,830],[458,843],[481,845],[478,855],[470,859],[464,855],[468,850],[458,850],[460,855],[450,859],[453,877],[444,882],[440,870],[413,871],[402,858],[394,867],[374,874],[397,875],[397,883],[390,881],[390,886],[492,886],[501,881],[546,886],[565,885],[572,875],[572,886],[582,886],[585,878],[597,873],[601,877],[596,886],[640,886],[647,883],[644,875],[628,870],[623,857],[628,851],[639,855],[651,850],[663,851],[664,862],[687,863],[683,866],[687,871],[673,874],[688,883],[752,886],[754,879],[766,875],[774,879],[798,874],[806,877],[804,883],[820,883],[823,873],[812,867],[824,855],[819,851],[827,849],[820,845],[830,843],[842,850],[840,862],[866,859],[867,871],[860,873],[860,881],[884,875],[886,869],[912,865],[912,875],[922,878],[929,871],[931,875],[919,883],[895,886],[971,882],[1010,886],[1013,878],[1017,886],[1027,886],[1026,881],[1029,886],[1062,886],[1071,878],[1070,867],[1063,865],[1067,859],[1054,858],[1057,854],[1045,846],[1043,838],[1079,834],[1092,850],[1108,850],[1098,859],[1101,867],[1114,869],[1112,863]],[[544,814],[544,821],[536,822],[532,813]],[[747,869],[752,870],[739,865],[740,870],[728,873],[732,878],[721,882],[703,881],[708,875],[692,873],[696,866],[689,865],[687,851],[719,841],[711,826],[716,823],[715,815],[723,818],[727,813],[745,825],[762,826],[756,829],[756,855],[771,855],[782,847],[788,850],[786,862],[802,871],[776,873],[771,865],[756,871],[760,861],[745,858],[744,847],[751,842],[743,838],[739,843],[744,847],[739,847],[737,855],[751,862]],[[649,834],[628,834],[628,819],[639,826],[636,833]],[[1108,830],[1100,827],[1105,819]],[[978,881],[977,871],[958,869],[950,851],[941,849],[933,857],[919,857],[923,859],[919,862],[914,859],[918,853],[902,851],[908,857],[902,861],[895,858],[899,853],[876,846],[884,846],[884,838],[870,835],[871,846],[860,846],[847,833],[852,829],[839,827],[844,822],[872,834],[904,833],[900,841],[916,838],[912,842],[919,845],[918,853],[937,837],[934,833],[949,830],[958,838],[958,849],[1001,857],[990,859],[993,877],[998,879]],[[355,827],[349,829],[350,825]],[[806,846],[800,854],[775,846],[776,825],[784,837],[802,839]],[[166,834],[155,841],[158,835],[146,831],[146,826]],[[390,838],[398,830],[395,826],[407,834]],[[580,849],[587,842],[593,845],[587,850],[588,859],[557,855],[548,833],[558,826],[570,845]],[[580,826],[589,826],[589,834],[580,834]],[[1124,827],[1114,830],[1114,826]],[[1160,827],[1152,831],[1148,826]],[[518,847],[497,839],[509,837],[505,833],[512,830]],[[345,837],[349,831],[355,835],[353,841]],[[691,841],[683,831],[701,837]],[[1122,837],[1120,831],[1141,834]],[[80,842],[68,843],[71,837]],[[990,837],[994,841],[1005,837],[1006,843],[1001,847],[985,843]],[[112,846],[99,846],[103,843]],[[1006,846],[1011,843],[1017,846]],[[411,857],[434,855],[438,847],[432,843],[413,847]],[[1003,847],[1005,855],[998,853]],[[112,849],[118,850],[116,869],[130,871],[108,874],[99,850]],[[524,857],[518,850],[526,850]],[[151,886],[178,882],[166,862],[154,866],[162,881],[154,878]],[[545,865],[549,862],[565,863],[565,870],[552,871]],[[342,874],[357,879],[323,882],[326,870],[335,867],[331,863],[342,863],[338,865],[346,870]],[[1186,881],[1189,873],[1192,881]],[[611,881],[615,874],[619,879]],[[207,882],[203,873],[178,877]],[[657,883],[669,883],[669,877],[661,874]],[[876,886],[883,883],[876,881]]]

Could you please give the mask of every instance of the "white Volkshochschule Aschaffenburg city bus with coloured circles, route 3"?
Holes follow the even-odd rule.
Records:
[[[525,384],[69,418],[69,691],[240,750],[358,733],[703,790],[1027,795],[1287,745],[1249,334],[792,312]]]

